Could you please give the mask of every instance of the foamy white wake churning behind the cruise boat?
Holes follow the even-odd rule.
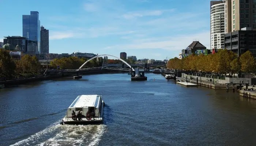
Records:
[[[60,125],[60,121],[11,146],[97,145],[106,125]]]

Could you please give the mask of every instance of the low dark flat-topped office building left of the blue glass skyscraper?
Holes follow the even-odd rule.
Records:
[[[19,46],[19,50],[21,52],[26,52],[27,51],[27,37],[20,37],[20,36],[8,36],[4,37],[4,44],[7,44],[9,42],[12,46]]]

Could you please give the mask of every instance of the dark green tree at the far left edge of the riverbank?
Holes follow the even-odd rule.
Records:
[[[15,73],[15,62],[8,51],[0,49],[0,74],[2,77],[12,77]]]

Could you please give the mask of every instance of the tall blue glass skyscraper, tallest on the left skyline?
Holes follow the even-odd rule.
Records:
[[[40,20],[37,11],[30,11],[30,15],[22,15],[22,34],[29,41],[35,43],[33,51],[40,53]]]

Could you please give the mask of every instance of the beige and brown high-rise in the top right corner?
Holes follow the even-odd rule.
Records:
[[[226,0],[226,32],[234,32],[244,27],[256,30],[256,0]]]

